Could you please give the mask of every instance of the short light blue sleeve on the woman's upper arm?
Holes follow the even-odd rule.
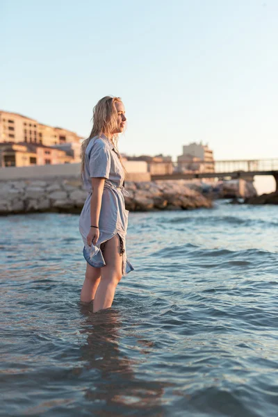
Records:
[[[111,167],[111,154],[109,149],[102,143],[96,140],[92,146],[89,159],[90,177],[104,177],[109,178]]]

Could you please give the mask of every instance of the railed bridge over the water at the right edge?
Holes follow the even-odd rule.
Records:
[[[160,164],[159,162],[157,164]],[[161,162],[163,164],[163,162]],[[165,164],[165,163],[164,163]],[[185,164],[200,165],[203,170],[185,170]],[[278,191],[278,158],[250,159],[250,160],[225,160],[225,161],[183,161],[173,162],[172,168],[167,174],[151,174],[155,179],[254,179],[255,175],[272,175],[276,181]]]

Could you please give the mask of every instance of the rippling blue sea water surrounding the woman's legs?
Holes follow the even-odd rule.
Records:
[[[78,215],[0,218],[3,416],[278,415],[278,207],[130,213],[111,309]]]

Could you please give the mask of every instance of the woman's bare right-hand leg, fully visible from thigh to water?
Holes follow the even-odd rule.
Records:
[[[101,280],[95,293],[93,312],[111,307],[117,284],[122,278],[122,254],[120,238],[116,234],[107,241],[104,260],[106,265],[101,268]]]

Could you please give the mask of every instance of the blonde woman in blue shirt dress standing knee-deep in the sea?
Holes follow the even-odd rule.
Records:
[[[83,255],[87,261],[81,302],[94,300],[93,312],[111,307],[122,275],[133,266],[126,258],[126,229],[122,157],[117,137],[126,116],[120,97],[99,100],[93,111],[90,137],[81,147],[81,177],[88,197],[79,218]]]

